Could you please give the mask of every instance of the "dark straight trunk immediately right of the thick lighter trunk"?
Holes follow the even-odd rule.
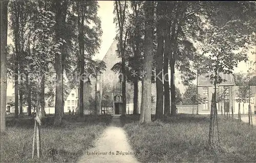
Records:
[[[166,21],[163,18],[164,2],[157,2],[157,67],[156,67],[156,89],[157,89],[157,101],[156,101],[156,119],[162,119],[163,117],[163,49],[164,49],[164,26]]]

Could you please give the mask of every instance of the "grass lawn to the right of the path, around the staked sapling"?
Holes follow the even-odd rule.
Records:
[[[142,125],[139,115],[121,120],[141,162],[256,162],[256,127],[245,123],[218,117],[220,152],[207,150],[209,115],[179,114]]]

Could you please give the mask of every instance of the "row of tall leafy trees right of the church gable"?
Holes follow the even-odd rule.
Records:
[[[181,72],[184,85],[208,73],[216,87],[223,80],[219,73],[232,73],[240,61],[247,61],[250,45],[255,43],[253,2],[118,1],[114,6],[121,63],[113,69],[124,74],[123,108],[126,80],[134,84],[134,114],[142,80],[141,123],[151,121],[152,82],[157,87],[156,118],[175,116],[175,69]],[[139,75],[132,77],[133,71]]]

